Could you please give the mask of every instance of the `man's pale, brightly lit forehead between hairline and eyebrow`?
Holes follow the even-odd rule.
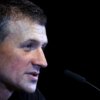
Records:
[[[34,23],[30,20],[9,21],[7,25],[9,37],[16,42],[24,42],[29,39],[47,43],[45,26]]]

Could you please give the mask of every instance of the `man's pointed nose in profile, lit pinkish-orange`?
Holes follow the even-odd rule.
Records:
[[[32,64],[40,65],[43,68],[47,67],[47,60],[42,48],[37,48],[33,51],[32,58]]]

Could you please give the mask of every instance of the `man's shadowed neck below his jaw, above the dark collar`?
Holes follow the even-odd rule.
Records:
[[[0,83],[0,100],[8,100],[8,98],[12,95],[12,92],[9,91],[6,86]]]

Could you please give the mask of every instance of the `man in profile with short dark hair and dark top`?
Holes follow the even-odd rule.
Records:
[[[36,88],[47,67],[46,17],[26,0],[0,1],[0,100],[44,100]]]

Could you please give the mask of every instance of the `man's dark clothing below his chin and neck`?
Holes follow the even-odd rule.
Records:
[[[45,98],[37,89],[35,93],[14,92],[8,100],[45,100]]]

